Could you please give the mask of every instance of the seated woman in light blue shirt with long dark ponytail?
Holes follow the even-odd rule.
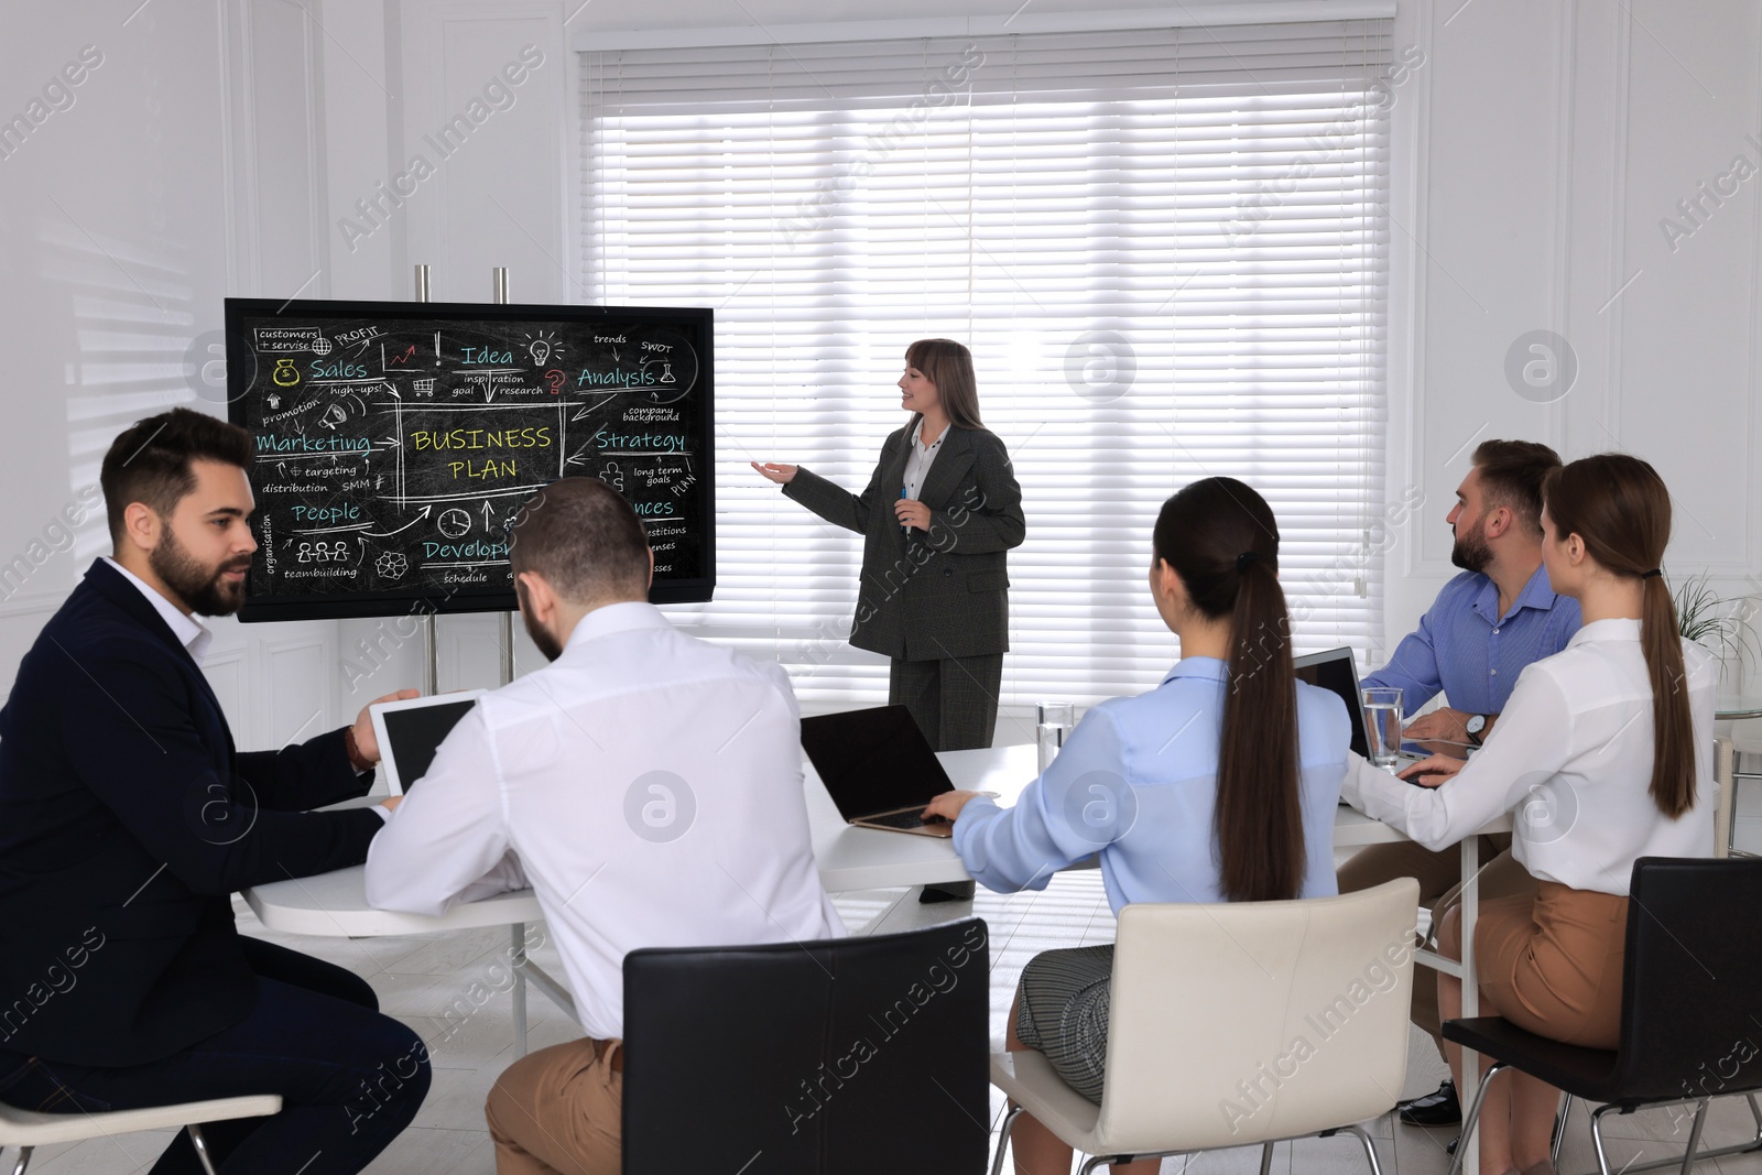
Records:
[[[1299,684],[1279,588],[1279,530],[1232,477],[1163,504],[1151,599],[1181,638],[1163,684],[1092,708],[1020,802],[950,791],[929,816],[955,821],[955,851],[985,886],[1043,890],[1099,854],[1108,905],[1260,902],[1334,888],[1334,809],[1351,738],[1339,698]],[[1036,1048],[1099,1103],[1112,946],[1045,951],[1022,972],[1011,1050]],[[1024,1115],[1015,1170],[1071,1170],[1071,1150]],[[1115,1168],[1156,1171],[1147,1159]]]

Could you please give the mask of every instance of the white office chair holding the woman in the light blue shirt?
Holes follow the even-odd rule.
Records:
[[[1119,914],[1101,1105],[1038,1052],[992,1053],[992,1085],[1099,1166],[1351,1133],[1408,1071],[1418,883],[1304,902],[1142,904]],[[1397,962],[1390,965],[1390,958]]]

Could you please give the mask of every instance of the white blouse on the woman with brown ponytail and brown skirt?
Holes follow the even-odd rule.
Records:
[[[1440,787],[1420,787],[1359,756],[1341,798],[1427,849],[1459,842],[1515,810],[1512,854],[1542,881],[1626,897],[1642,856],[1713,856],[1716,666],[1683,641],[1695,802],[1669,819],[1647,791],[1653,689],[1639,620],[1596,620],[1528,666],[1487,743]]]

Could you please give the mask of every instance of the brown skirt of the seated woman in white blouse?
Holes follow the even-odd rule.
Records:
[[[1566,1045],[1621,1041],[1621,967],[1628,898],[1538,881],[1536,895],[1480,904],[1475,971],[1482,1015]],[[1441,927],[1440,948],[1461,958],[1461,923]]]

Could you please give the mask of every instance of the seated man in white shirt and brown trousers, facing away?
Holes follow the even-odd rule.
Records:
[[[844,927],[809,840],[788,675],[675,631],[647,602],[641,523],[599,481],[536,495],[509,562],[527,632],[553,664],[453,729],[375,837],[366,897],[439,914],[467,888],[481,897],[486,876],[530,881],[587,1036],[497,1078],[497,1171],[613,1175],[626,953]]]

